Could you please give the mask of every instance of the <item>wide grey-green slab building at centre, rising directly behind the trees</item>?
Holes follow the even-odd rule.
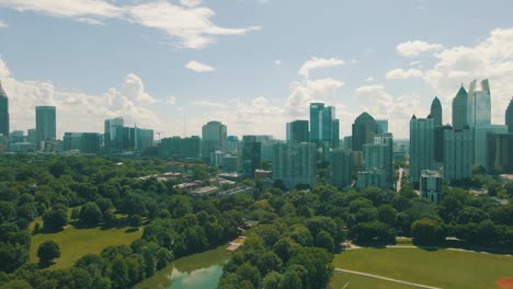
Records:
[[[273,178],[285,187],[316,184],[317,149],[315,143],[277,143],[274,146]]]

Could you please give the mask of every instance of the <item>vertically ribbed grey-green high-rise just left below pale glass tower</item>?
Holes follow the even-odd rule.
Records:
[[[474,132],[471,129],[444,131],[444,180],[447,183],[472,176]]]

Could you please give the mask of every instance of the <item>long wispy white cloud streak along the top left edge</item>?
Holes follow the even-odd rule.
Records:
[[[18,11],[41,12],[50,16],[71,18],[90,25],[105,19],[122,19],[130,23],[164,32],[179,47],[201,49],[214,43],[217,36],[243,35],[260,26],[229,28],[214,24],[216,13],[202,7],[200,0],[142,2],[116,5],[105,0],[1,0],[0,5]]]

